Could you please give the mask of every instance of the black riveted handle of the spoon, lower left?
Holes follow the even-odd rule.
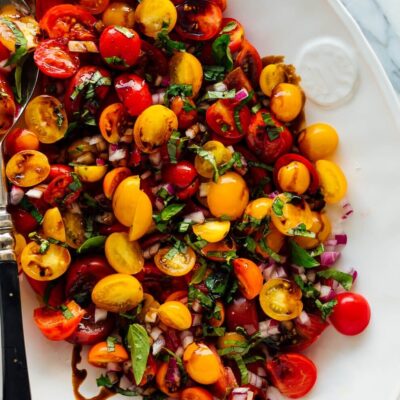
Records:
[[[3,400],[31,400],[15,261],[0,261],[0,315]]]

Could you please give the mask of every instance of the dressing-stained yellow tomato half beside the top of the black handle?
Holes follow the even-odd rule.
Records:
[[[69,251],[57,244],[50,244],[42,250],[40,244],[29,243],[21,254],[23,271],[37,281],[51,281],[61,276],[69,267]]]

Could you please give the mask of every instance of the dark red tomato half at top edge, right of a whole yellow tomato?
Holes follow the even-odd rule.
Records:
[[[205,41],[212,39],[220,30],[222,11],[208,0],[186,0],[177,7],[176,31],[184,39]]]

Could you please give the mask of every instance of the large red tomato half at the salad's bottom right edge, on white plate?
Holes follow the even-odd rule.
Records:
[[[317,380],[317,368],[302,354],[281,354],[267,362],[267,373],[272,384],[291,398],[305,396]]]

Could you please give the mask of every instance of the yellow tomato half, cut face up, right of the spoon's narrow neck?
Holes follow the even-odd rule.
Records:
[[[67,114],[63,105],[55,97],[45,94],[28,103],[25,123],[42,143],[57,142],[64,137],[68,129]]]

